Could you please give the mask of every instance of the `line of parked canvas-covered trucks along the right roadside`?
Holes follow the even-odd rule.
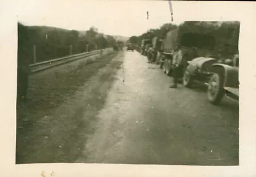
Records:
[[[207,98],[212,104],[220,103],[224,93],[238,100],[238,49],[232,53],[227,44],[220,45],[214,36],[214,27],[212,31],[202,28],[204,26],[179,26],[168,31],[164,39],[155,36],[152,40],[142,40],[141,54],[149,61],[156,61],[166,75],[172,75],[173,49],[179,44],[182,50],[180,81],[184,86],[191,87],[194,79],[204,82],[208,85]],[[226,42],[230,40],[232,36]],[[236,59],[232,59],[234,56]]]

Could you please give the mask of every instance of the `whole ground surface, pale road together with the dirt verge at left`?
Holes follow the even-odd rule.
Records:
[[[210,104],[202,84],[169,88],[172,78],[136,51],[96,63],[31,78],[38,100],[17,107],[18,164],[239,165],[237,102]]]

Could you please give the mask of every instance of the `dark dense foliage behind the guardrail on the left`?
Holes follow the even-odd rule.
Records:
[[[18,59],[33,63],[33,46],[36,46],[36,62],[60,58],[70,54],[104,49],[116,44],[113,36],[102,35],[97,28],[88,31],[66,30],[47,26],[24,26],[18,24]]]

